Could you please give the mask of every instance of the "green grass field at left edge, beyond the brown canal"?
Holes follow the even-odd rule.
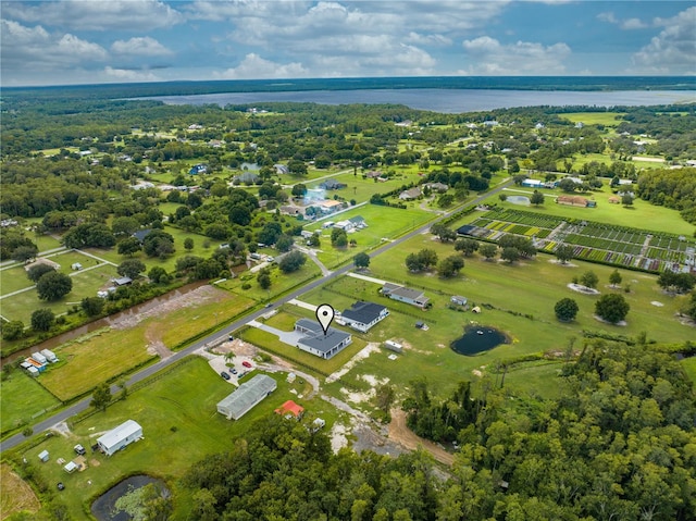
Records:
[[[82,256],[82,259],[84,264],[85,257]],[[90,261],[94,262],[91,259]],[[2,273],[2,283],[4,283],[5,272],[0,273]],[[116,269],[109,264],[101,264],[99,268],[95,268],[89,271],[72,272],[71,275],[73,289],[62,299],[53,302],[39,300],[36,289],[29,289],[27,291],[3,298],[2,315],[9,320],[21,320],[25,324],[28,324],[32,319],[32,313],[39,308],[48,308],[57,315],[64,313],[73,306],[79,305],[83,298],[96,297],[97,290],[101,286],[109,283],[111,278],[119,276]],[[23,280],[28,282],[26,275],[22,276],[24,277]]]

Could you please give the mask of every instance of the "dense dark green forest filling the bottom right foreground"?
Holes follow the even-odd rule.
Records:
[[[680,364],[644,345],[597,342],[558,384],[558,401],[500,389],[471,401],[463,384],[439,402],[426,383],[414,386],[405,408],[432,408],[457,430],[447,471],[422,451],[334,455],[309,422],[264,420],[184,477],[191,519],[693,519],[696,407]]]

